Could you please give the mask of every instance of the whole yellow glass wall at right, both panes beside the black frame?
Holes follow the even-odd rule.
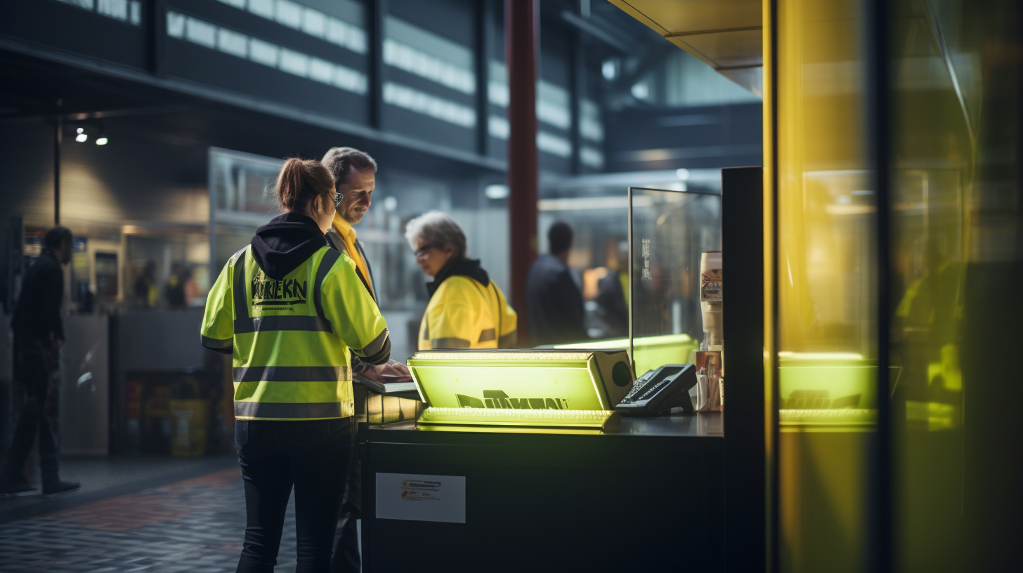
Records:
[[[768,178],[779,241],[768,285],[779,304],[768,316],[780,421],[771,550],[793,572],[1013,570],[1023,513],[1023,3],[883,3],[886,124],[865,114],[864,3],[765,2],[776,16],[767,46],[777,122],[766,132],[776,166],[765,156],[777,170]],[[872,124],[890,143],[882,205]],[[890,220],[884,246],[878,209]],[[886,290],[879,247],[889,253]],[[889,396],[877,393],[879,328],[890,335]],[[877,433],[881,400],[890,435]],[[891,449],[890,504],[868,491],[886,461],[879,440]],[[890,553],[872,557],[871,528],[885,523]]]

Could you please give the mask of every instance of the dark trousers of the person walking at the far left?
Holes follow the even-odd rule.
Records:
[[[57,481],[57,443],[46,418],[46,394],[50,371],[54,369],[51,350],[40,344],[14,342],[14,381],[23,386],[26,401],[11,439],[4,479],[25,481],[25,461],[32,451],[32,442],[39,433],[39,469],[43,483]]]

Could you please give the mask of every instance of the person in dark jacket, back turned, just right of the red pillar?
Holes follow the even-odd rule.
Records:
[[[558,221],[547,230],[550,253],[533,263],[526,278],[531,344],[558,344],[586,340],[582,293],[569,270],[572,227]]]

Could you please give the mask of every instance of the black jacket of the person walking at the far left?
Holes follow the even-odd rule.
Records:
[[[63,271],[56,256],[46,249],[21,282],[21,296],[10,321],[14,340],[18,344],[63,340],[62,301]]]

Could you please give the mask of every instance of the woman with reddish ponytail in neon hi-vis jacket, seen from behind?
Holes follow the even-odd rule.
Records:
[[[300,573],[329,571],[352,448],[349,350],[391,354],[387,322],[324,236],[341,203],[330,172],[287,160],[283,215],[256,231],[210,292],[203,345],[233,355],[234,444],[246,491],[239,572],[272,571],[295,488]]]

